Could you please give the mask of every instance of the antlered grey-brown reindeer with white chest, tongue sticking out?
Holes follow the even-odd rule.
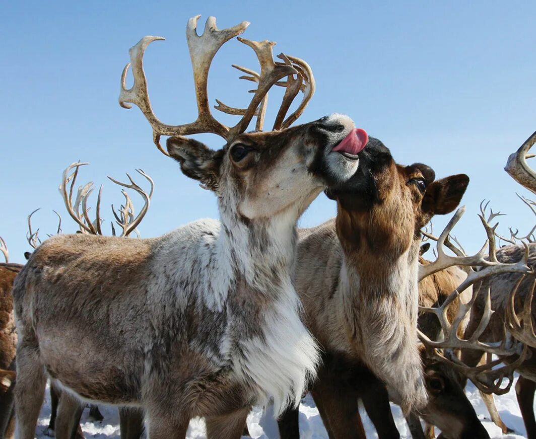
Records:
[[[280,413],[315,373],[317,345],[292,283],[295,224],[327,185],[353,175],[364,132],[342,115],[289,127],[314,91],[312,72],[290,56],[274,63],[271,42],[245,39],[261,64],[258,87],[239,123],[218,122],[207,101],[210,62],[248,23],[220,31],[211,17],[198,36],[197,20],[187,25],[197,120],[170,126],[154,116],[143,52],[159,37],[131,49],[135,84],[125,87],[127,65],[120,103],[143,111],[160,150],[160,136],[173,136],[167,154],[217,195],[221,222],[153,239],[63,235],[32,254],[13,288],[21,439],[33,438],[47,375],[77,398],[143,408],[149,437],[159,439],[185,437],[195,416],[206,417],[209,437],[240,437],[252,404],[273,398]],[[262,128],[266,93],[285,77],[273,131],[245,133],[255,115]],[[300,90],[302,103],[285,119]],[[184,137],[200,132],[220,135],[224,148]],[[422,386],[412,391],[420,402]]]

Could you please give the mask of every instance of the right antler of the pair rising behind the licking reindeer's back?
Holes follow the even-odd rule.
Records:
[[[130,180],[130,183],[131,183],[130,185],[126,183],[121,183],[121,181],[117,181],[111,177],[108,177],[115,184],[135,190],[137,193],[142,195],[142,198],[145,201],[142,210],[140,210],[140,213],[138,214],[138,216],[135,216],[134,205],[130,199],[129,194],[125,190],[121,190],[121,192],[123,193],[123,196],[125,197],[125,204],[122,205],[119,209],[117,209],[119,212],[119,215],[115,213],[113,205],[111,206],[111,211],[113,212],[115,216],[115,220],[117,224],[119,224],[121,228],[123,229],[121,233],[122,237],[127,237],[132,232],[136,232],[136,234],[138,234],[139,236],[139,233],[136,228],[138,224],[142,222],[145,214],[147,213],[147,209],[149,208],[151,197],[153,196],[153,191],[154,191],[153,179],[149,177],[142,169],[136,169],[136,171],[142,176],[144,176],[151,184],[151,190],[149,191],[148,194],[141,187],[139,187],[136,183],[134,183],[134,180],[132,180],[132,177],[130,177],[128,173],[126,174],[126,176]],[[112,224],[112,234],[115,236],[115,229],[114,229],[113,224]]]

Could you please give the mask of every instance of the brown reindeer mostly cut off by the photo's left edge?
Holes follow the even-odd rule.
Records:
[[[9,263],[9,251],[0,237],[0,252],[5,263],[0,263],[0,437],[13,436],[13,385],[15,381],[15,351],[17,335],[13,318],[13,279],[21,268],[20,264]]]

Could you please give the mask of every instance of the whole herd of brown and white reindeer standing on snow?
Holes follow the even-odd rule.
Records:
[[[219,221],[199,220],[150,239],[130,239],[150,205],[135,215],[128,193],[114,210],[120,236],[104,236],[100,214],[88,211],[92,184],[80,186],[80,166],[66,168],[59,187],[76,234],[41,243],[28,217],[27,263],[8,263],[0,248],[0,434],[31,439],[47,380],[53,392],[51,429],[58,438],[84,437],[86,402],[119,407],[121,437],[184,438],[203,417],[207,437],[248,434],[252,406],[273,404],[282,439],[299,438],[297,406],[312,397],[331,439],[365,438],[362,401],[380,438],[398,438],[390,404],[400,405],[414,438],[489,437],[465,396],[470,379],[494,422],[493,403],[519,373],[516,392],[529,438],[536,438],[536,334],[532,296],[536,244],[508,240],[497,249],[495,214],[481,206],[487,243],[467,255],[451,237],[456,211],[436,237],[434,215],[455,211],[468,186],[464,174],[435,179],[422,163],[397,164],[391,151],[347,116],[334,114],[291,126],[315,91],[309,65],[280,54],[274,43],[251,47],[260,73],[235,66],[256,82],[247,108],[218,101],[240,116],[228,127],[212,115],[207,79],[212,58],[248,22],[218,29],[187,25],[198,116],[167,125],[154,115],[143,55],[161,37],[130,49],[120,104],[135,104],[153,128],[158,149],[217,196]],[[132,67],[134,84],[126,88]],[[271,131],[263,131],[267,96],[284,88]],[[297,95],[302,100],[287,116]],[[253,118],[256,129],[247,132]],[[184,137],[214,133],[212,150]],[[166,149],[162,135],[170,136]],[[536,133],[508,160],[508,173],[536,193],[526,163]],[[337,216],[315,228],[296,222],[323,192]],[[501,239],[504,239],[500,237]],[[423,239],[436,257],[423,259]],[[98,410],[93,407],[94,416]],[[57,412],[57,413],[56,413]],[[425,429],[421,426],[425,421]]]

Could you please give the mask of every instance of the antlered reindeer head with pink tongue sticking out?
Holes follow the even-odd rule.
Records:
[[[207,77],[212,58],[218,49],[232,37],[241,34],[249,25],[242,22],[229,29],[219,30],[210,17],[203,35],[198,36],[198,17],[191,18],[187,26],[187,40],[196,85],[198,117],[195,122],[170,126],[160,122],[153,113],[147,94],[143,71],[143,53],[149,43],[160,37],[146,36],[130,49],[135,84],[125,87],[123,71],[120,103],[136,104],[153,127],[154,141],[161,152],[175,158],[185,175],[200,181],[202,187],[214,191],[220,208],[231,209],[244,220],[270,217],[293,207],[297,215],[327,185],[341,182],[353,175],[358,167],[360,148],[366,134],[355,130],[346,116],[333,115],[305,125],[290,127],[301,115],[315,90],[315,80],[306,62],[280,54],[281,62],[273,59],[270,41],[239,41],[251,47],[259,60],[260,73],[234,66],[248,75],[241,78],[257,83],[257,89],[248,108],[228,107],[217,101],[220,111],[242,116],[233,127],[216,120],[209,109]],[[283,80],[286,78],[285,80]],[[267,93],[272,86],[285,87],[281,107],[272,131],[261,131],[264,124]],[[299,92],[303,99],[288,117],[286,113]],[[253,117],[257,117],[256,131],[245,133]],[[214,133],[225,139],[222,149],[212,150],[196,140],[184,137],[195,133]],[[161,135],[170,135],[167,153],[160,146]],[[349,136],[349,137],[348,137]],[[348,137],[346,142],[344,140]],[[343,153],[339,143],[346,145]],[[332,150],[334,149],[334,150]]]

